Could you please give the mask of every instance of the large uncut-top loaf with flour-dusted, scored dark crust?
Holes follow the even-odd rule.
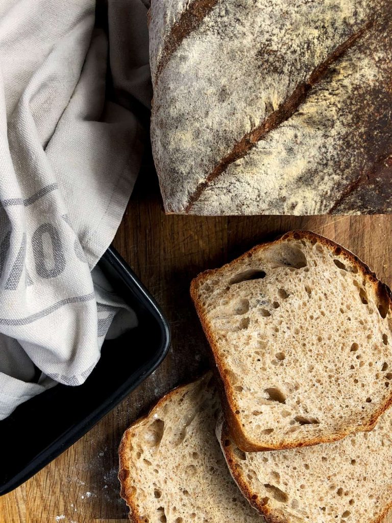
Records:
[[[392,211],[390,0],[152,0],[169,213]]]

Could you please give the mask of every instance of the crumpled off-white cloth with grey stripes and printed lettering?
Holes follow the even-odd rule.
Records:
[[[111,0],[108,31],[95,8],[0,3],[0,419],[83,383],[123,307],[94,267],[140,167],[131,109],[151,100],[147,5]]]

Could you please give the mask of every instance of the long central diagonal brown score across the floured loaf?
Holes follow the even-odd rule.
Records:
[[[279,105],[278,109],[273,111],[260,126],[245,134],[245,136],[234,145],[229,154],[222,158],[220,163],[216,165],[206,179],[197,186],[185,208],[186,213],[190,212],[194,203],[199,200],[203,191],[210,185],[211,181],[223,174],[229,165],[246,156],[248,152],[253,149],[260,140],[266,138],[270,132],[292,118],[298,108],[305,103],[310,90],[327,75],[329,67],[337,62],[345,52],[351,49],[356,41],[358,41],[372,25],[373,20],[368,21],[359,31],[353,33],[345,42],[340,44],[327,60],[316,67],[312,74],[310,74],[307,82],[297,85],[293,93]]]

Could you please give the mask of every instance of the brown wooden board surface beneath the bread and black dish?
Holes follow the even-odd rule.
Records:
[[[160,395],[207,365],[206,342],[189,298],[191,279],[294,228],[310,229],[341,243],[392,284],[392,216],[166,216],[153,170],[148,165],[142,169],[114,245],[168,317],[169,355],[153,376],[86,436],[16,491],[1,497],[0,523],[128,521],[117,480],[123,431]],[[392,523],[392,514],[383,523]]]

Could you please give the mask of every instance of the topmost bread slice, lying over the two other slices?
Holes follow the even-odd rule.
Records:
[[[391,404],[391,292],[327,238],[287,233],[203,272],[191,295],[242,450],[336,441]]]

